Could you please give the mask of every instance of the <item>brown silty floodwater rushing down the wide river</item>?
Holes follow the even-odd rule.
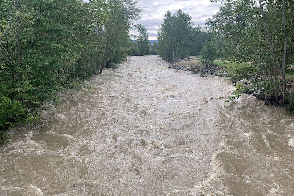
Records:
[[[293,117],[167,66],[130,57],[44,111],[43,136],[15,127],[0,195],[293,195]]]

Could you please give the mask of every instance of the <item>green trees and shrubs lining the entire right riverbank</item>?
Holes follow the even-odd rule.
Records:
[[[294,1],[221,2],[223,6],[206,20],[206,28],[202,29],[208,39],[198,39],[202,47],[194,52],[206,68],[215,58],[232,62],[226,66],[228,76],[234,80],[247,79],[254,89],[262,89],[267,97],[293,113]],[[158,31],[158,54],[170,62],[192,56],[192,25],[188,13],[166,12]]]

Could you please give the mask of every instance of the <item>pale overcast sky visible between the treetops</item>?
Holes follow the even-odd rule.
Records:
[[[177,9],[181,9],[190,14],[195,26],[204,26],[205,20],[217,13],[221,4],[212,3],[210,0],[140,0],[138,6],[142,9],[142,17],[134,23],[145,26],[149,40],[157,40],[158,26],[163,22],[166,11],[176,13]],[[130,31],[130,34],[137,34],[137,31]]]

